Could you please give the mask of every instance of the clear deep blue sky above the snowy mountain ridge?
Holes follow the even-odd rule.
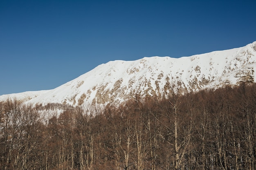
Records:
[[[56,88],[112,60],[256,41],[256,0],[0,0],[0,95]]]

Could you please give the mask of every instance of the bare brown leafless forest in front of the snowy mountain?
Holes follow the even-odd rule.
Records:
[[[67,107],[0,103],[1,170],[254,170],[256,85]]]

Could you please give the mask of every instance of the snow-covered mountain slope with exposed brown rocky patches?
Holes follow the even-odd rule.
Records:
[[[101,64],[55,89],[0,96],[33,104],[123,102],[140,95],[167,97],[173,85],[179,91],[198,91],[240,82],[255,82],[256,42],[247,46],[190,57],[144,57],[135,61]]]

